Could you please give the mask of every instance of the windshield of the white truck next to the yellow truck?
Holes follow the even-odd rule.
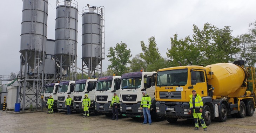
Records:
[[[121,89],[137,89],[141,86],[141,77],[123,78],[121,81]]]

